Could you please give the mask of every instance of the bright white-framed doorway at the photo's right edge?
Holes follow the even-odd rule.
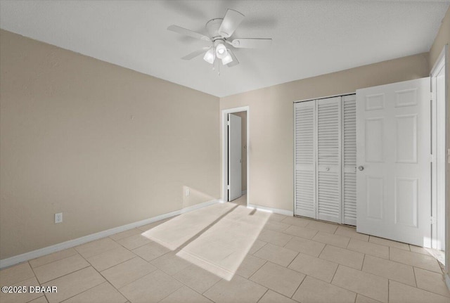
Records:
[[[435,257],[445,265],[448,270],[448,258],[446,255],[446,171],[448,161],[446,159],[446,100],[448,88],[446,87],[446,53],[445,46],[435,63],[431,73],[432,91],[432,245]]]

